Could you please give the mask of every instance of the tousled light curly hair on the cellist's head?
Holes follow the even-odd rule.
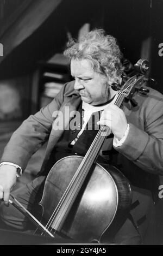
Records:
[[[89,59],[95,72],[120,82],[123,72],[122,53],[116,38],[106,35],[104,29],[94,29],[80,41],[70,39],[64,55],[68,59]]]

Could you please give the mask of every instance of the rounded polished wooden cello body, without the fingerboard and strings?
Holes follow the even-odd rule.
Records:
[[[81,156],[69,156],[52,167],[40,201],[44,221],[51,218],[82,160]],[[114,166],[95,163],[59,230],[60,234],[82,242],[101,242],[102,235],[116,217],[128,212],[130,203],[131,189],[126,177]],[[51,228],[55,230],[53,224]]]

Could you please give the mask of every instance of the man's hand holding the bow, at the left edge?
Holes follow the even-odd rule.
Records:
[[[9,205],[9,197],[12,188],[16,184],[16,167],[11,165],[0,166],[0,200]]]

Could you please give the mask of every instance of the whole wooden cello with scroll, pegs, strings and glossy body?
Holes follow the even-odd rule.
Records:
[[[126,78],[121,88],[116,86],[115,104],[119,108],[125,99],[132,100],[135,91],[148,92],[141,87],[148,61],[140,59],[135,69],[136,75]],[[127,178],[114,166],[96,162],[108,134],[110,128],[101,126],[85,157],[64,157],[49,171],[40,201],[45,227],[33,219],[41,235],[59,234],[72,241],[99,243],[111,224],[129,212],[131,188]]]

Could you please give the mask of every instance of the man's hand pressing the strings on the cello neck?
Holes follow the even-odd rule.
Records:
[[[102,112],[101,119],[97,124],[110,127],[112,133],[118,140],[123,138],[127,129],[127,119],[123,110],[118,106],[110,104]]]

